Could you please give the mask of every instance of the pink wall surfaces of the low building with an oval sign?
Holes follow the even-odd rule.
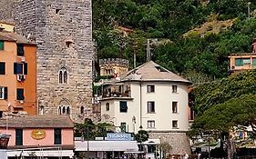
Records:
[[[35,128],[37,129],[37,128]],[[51,146],[54,145],[54,128],[40,128],[45,131],[45,138],[36,140],[32,137],[33,128],[23,128],[23,145],[24,146]],[[6,129],[0,127],[0,133],[5,134]],[[8,128],[8,134],[11,134],[8,146],[15,146],[15,128]],[[72,128],[61,129],[61,144],[74,144]]]

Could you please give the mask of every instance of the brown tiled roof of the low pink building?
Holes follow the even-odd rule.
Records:
[[[35,115],[35,116],[14,116],[0,119],[0,127],[18,128],[73,128],[74,124],[67,115]]]

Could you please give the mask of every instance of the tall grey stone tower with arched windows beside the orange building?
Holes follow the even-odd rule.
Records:
[[[38,114],[92,116],[91,0],[17,0],[14,20],[38,47]]]

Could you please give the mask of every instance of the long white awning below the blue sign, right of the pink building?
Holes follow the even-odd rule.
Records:
[[[136,141],[76,141],[75,151],[119,151],[119,152],[131,152],[138,151],[138,144]]]

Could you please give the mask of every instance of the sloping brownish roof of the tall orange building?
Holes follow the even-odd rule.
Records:
[[[1,31],[0,32],[0,40],[4,40],[4,41],[13,41],[16,42],[18,44],[31,44],[31,45],[35,45],[33,43],[31,43],[30,41],[28,41],[24,36],[22,35],[17,35],[13,32],[6,32],[6,31]]]

